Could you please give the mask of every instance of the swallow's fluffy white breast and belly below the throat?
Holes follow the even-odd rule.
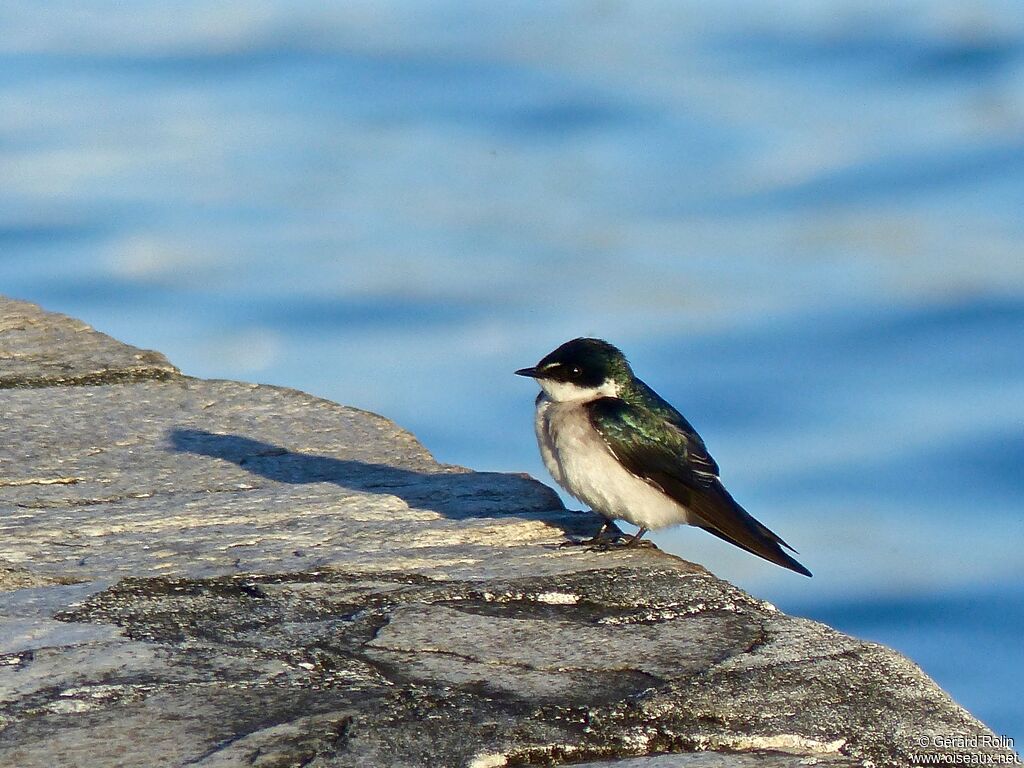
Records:
[[[542,395],[535,428],[544,464],[563,488],[595,512],[645,528],[687,522],[686,509],[627,471],[590,422],[584,402]]]

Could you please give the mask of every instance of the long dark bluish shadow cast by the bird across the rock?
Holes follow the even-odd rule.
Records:
[[[520,517],[544,520],[566,532],[593,523],[589,515],[567,514],[554,490],[527,476],[420,472],[356,459],[298,454],[251,437],[199,429],[173,429],[169,440],[178,453],[228,461],[275,482],[333,482],[348,490],[394,496],[410,507],[452,519]]]

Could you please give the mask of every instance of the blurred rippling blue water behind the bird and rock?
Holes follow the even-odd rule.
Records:
[[[546,482],[512,371],[605,337],[815,577],[659,546],[1024,740],[1019,0],[7,0],[0,29],[0,292]]]

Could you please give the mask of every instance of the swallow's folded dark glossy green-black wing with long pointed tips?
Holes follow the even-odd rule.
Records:
[[[628,471],[686,507],[696,518],[693,522],[709,532],[770,562],[810,575],[781,549],[793,548],[725,489],[718,478],[718,465],[693,427],[653,390],[648,391],[656,400],[647,398],[644,407],[617,397],[587,403],[591,424],[612,455]]]

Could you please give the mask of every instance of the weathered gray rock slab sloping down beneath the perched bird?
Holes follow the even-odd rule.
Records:
[[[0,369],[0,766],[1011,755],[894,651],[561,547],[596,520],[382,417],[9,300]]]

